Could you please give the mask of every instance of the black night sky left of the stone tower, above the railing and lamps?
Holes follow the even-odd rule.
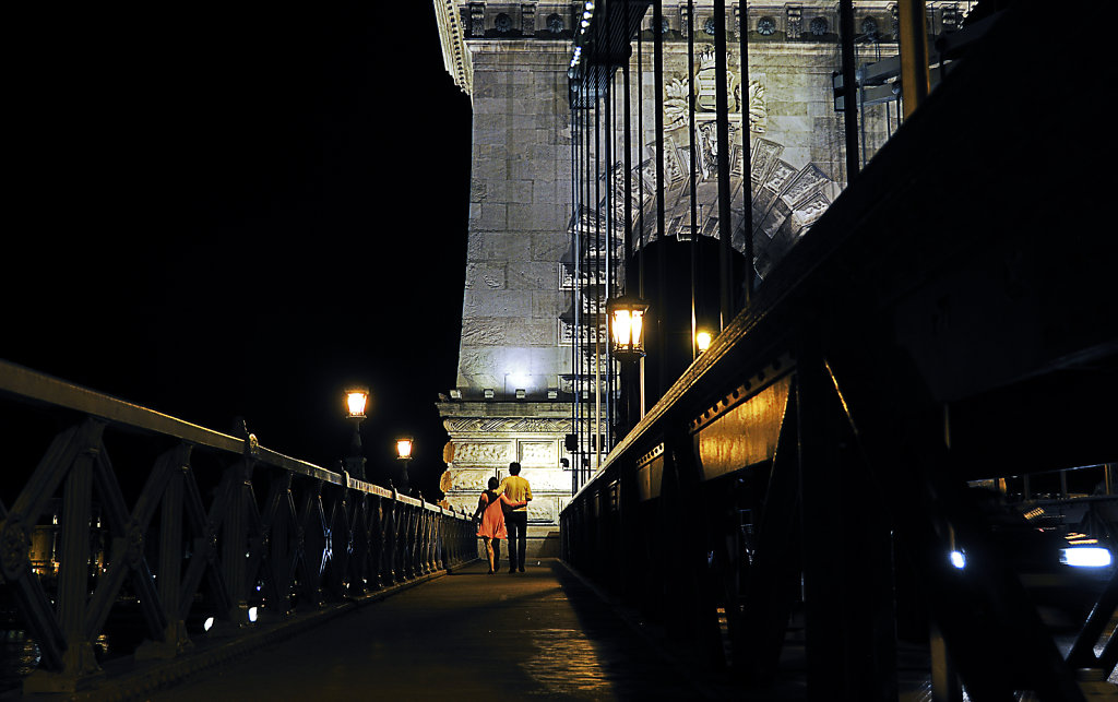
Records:
[[[363,382],[373,475],[410,433],[432,494],[471,113],[429,0],[26,12],[0,358],[320,465]]]

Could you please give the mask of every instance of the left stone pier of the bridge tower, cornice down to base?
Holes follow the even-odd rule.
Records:
[[[473,105],[470,241],[456,387],[438,404],[451,444],[442,490],[473,511],[509,463],[532,485],[529,553],[558,554],[571,494],[559,317],[570,235],[567,66],[572,7],[435,0],[446,69]],[[567,401],[563,401],[563,400]]]

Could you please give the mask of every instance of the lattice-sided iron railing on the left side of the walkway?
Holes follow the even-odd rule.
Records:
[[[247,634],[477,556],[465,515],[252,435],[2,360],[0,401],[21,420],[4,430],[9,459],[36,436],[49,444],[34,471],[4,466],[4,494],[18,496],[0,500],[0,588],[40,655],[25,692],[101,677],[95,642],[113,627],[134,629],[136,660],[173,658],[191,639]],[[117,653],[127,638],[115,637]]]

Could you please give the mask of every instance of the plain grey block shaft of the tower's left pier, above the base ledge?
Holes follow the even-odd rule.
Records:
[[[474,63],[470,241],[458,389],[546,399],[570,366],[557,319],[569,305],[558,262],[570,245],[568,45],[471,41]]]

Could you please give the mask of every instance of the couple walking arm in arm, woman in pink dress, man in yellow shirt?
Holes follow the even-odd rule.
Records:
[[[501,562],[501,539],[509,539],[509,572],[524,572],[524,552],[528,550],[528,503],[532,488],[520,477],[520,464],[509,464],[509,476],[498,483],[489,480],[489,490],[477,499],[474,519],[481,518],[477,535],[485,541],[490,573],[496,572]]]

